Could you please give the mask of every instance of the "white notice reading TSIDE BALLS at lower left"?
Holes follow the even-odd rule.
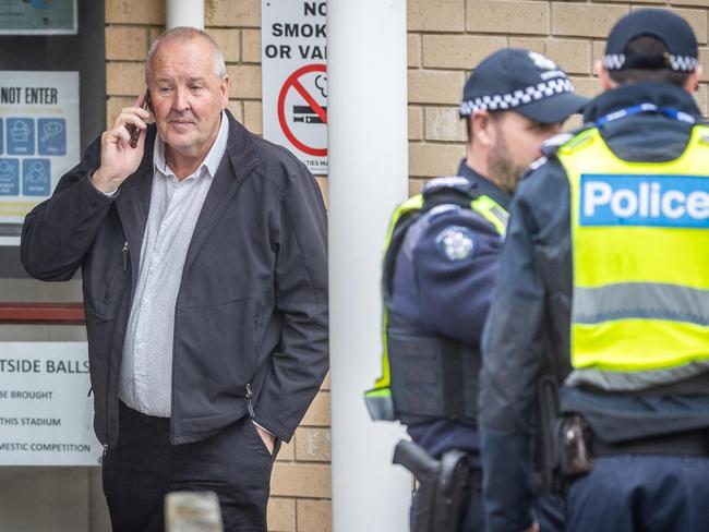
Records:
[[[0,343],[0,466],[97,466],[85,342]]]

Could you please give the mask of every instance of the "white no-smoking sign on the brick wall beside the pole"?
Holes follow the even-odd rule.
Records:
[[[263,133],[327,173],[326,2],[262,0]]]

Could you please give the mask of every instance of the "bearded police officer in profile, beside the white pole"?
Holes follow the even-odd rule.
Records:
[[[443,457],[440,476],[429,483],[418,474],[416,531],[482,530],[479,341],[507,208],[542,142],[586,101],[540,53],[504,49],[491,55],[464,88],[460,116],[469,145],[459,177],[432,180],[394,215],[383,276],[384,370],[366,402],[374,419],[399,420],[431,457]],[[446,457],[452,449],[456,454]],[[466,500],[456,498],[468,485],[456,477],[461,460],[473,469],[472,495]],[[432,483],[454,487],[442,495]]]

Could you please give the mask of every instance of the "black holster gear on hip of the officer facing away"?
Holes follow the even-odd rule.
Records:
[[[563,492],[575,477],[593,470],[591,428],[582,415],[560,412],[558,386],[551,375],[541,378],[538,403],[542,488]]]

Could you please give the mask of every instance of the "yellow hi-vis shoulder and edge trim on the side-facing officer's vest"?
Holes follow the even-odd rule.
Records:
[[[417,194],[411,196],[394,210],[392,221],[389,222],[386,241],[384,244],[384,255],[386,255],[392,235],[398,223],[408,215],[419,211],[423,208],[423,195]],[[483,219],[489,221],[497,233],[504,237],[507,228],[507,211],[490,196],[481,195],[470,202],[470,208]],[[389,373],[389,353],[388,353],[388,312],[386,304],[382,311],[382,376],[374,383],[374,387],[364,392],[364,402],[373,420],[395,421],[398,419],[396,404],[392,395],[392,378]]]

